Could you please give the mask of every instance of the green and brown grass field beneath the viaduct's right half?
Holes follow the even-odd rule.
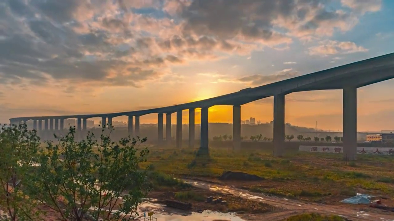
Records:
[[[340,154],[294,152],[273,157],[270,150],[210,148],[210,157],[196,157],[197,149],[151,147],[150,171],[173,177],[217,179],[224,171],[240,171],[264,177],[260,183],[242,183],[254,192],[310,201],[338,202],[356,192],[394,197],[393,156],[360,155],[357,163],[345,162]],[[170,182],[170,181],[165,181]],[[173,181],[171,181],[173,182]],[[237,186],[237,185],[236,185]]]

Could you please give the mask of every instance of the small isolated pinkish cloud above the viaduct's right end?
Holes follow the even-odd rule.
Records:
[[[338,53],[348,54],[356,52],[368,52],[368,49],[357,46],[354,42],[350,41],[320,41],[318,46],[308,48],[310,55],[335,55]],[[338,60],[338,59],[335,59]]]

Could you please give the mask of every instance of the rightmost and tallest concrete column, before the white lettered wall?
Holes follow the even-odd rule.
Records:
[[[357,154],[357,87],[343,89],[343,153],[345,160]]]

